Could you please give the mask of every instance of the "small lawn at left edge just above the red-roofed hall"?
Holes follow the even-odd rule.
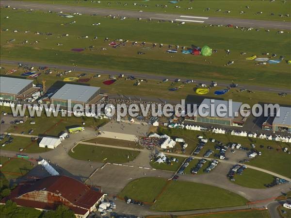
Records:
[[[2,163],[2,159],[4,159]],[[10,179],[16,179],[20,176],[25,175],[30,171],[33,166],[31,162],[24,159],[11,158],[6,160],[5,157],[1,157],[1,173],[4,174],[5,178],[9,181]]]

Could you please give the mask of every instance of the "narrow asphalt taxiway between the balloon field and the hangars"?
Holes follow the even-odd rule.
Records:
[[[146,73],[132,73],[132,72],[124,72],[124,71],[116,71],[116,70],[105,70],[105,69],[97,69],[97,68],[90,68],[90,67],[70,67],[66,65],[57,65],[57,64],[48,64],[48,63],[35,63],[35,62],[24,62],[24,61],[17,61],[17,60],[0,60],[0,64],[8,64],[8,65],[18,65],[18,63],[26,64],[33,67],[49,67],[49,68],[56,68],[62,70],[75,70],[79,72],[86,72],[86,73],[94,73],[94,74],[103,74],[103,75],[119,75],[124,74],[125,77],[132,75],[139,79],[147,79],[147,80],[159,80],[162,81],[165,78],[168,78],[170,81],[175,81],[177,77],[170,77],[170,76],[163,76],[163,75],[155,75],[155,74],[146,74]],[[179,79],[195,79],[195,78],[179,78]],[[210,85],[210,81],[205,80],[195,80],[196,84],[207,84]],[[229,86],[232,84],[231,81],[229,83],[218,83],[218,86]],[[239,84],[238,88],[244,88],[253,91],[262,91],[262,92],[286,92],[291,94],[290,89],[283,89],[283,88],[275,88],[275,87],[265,87],[259,85],[246,85],[246,84]]]

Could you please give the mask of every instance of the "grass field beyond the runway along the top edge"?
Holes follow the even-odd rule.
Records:
[[[85,6],[85,7],[97,7],[97,8],[110,8],[110,9],[121,9],[121,10],[134,10],[134,11],[145,11],[145,12],[159,12],[159,13],[172,13],[172,14],[187,14],[187,15],[200,15],[200,16],[215,16],[215,17],[235,17],[244,19],[264,19],[264,20],[290,20],[288,17],[279,17],[279,14],[289,14],[288,8],[291,7],[290,2],[286,1],[227,1],[227,0],[181,0],[178,3],[171,4],[168,0],[123,0],[121,1],[107,1],[101,0],[100,3],[97,1],[68,1],[68,0],[33,0],[33,2],[40,3],[53,3],[53,4],[64,4],[73,6]],[[108,3],[110,2],[110,4]],[[133,3],[137,3],[134,5]],[[158,5],[158,6],[157,6]],[[167,8],[163,7],[167,5]],[[176,8],[175,6],[178,6]],[[250,9],[247,9],[249,6]],[[188,9],[189,8],[189,9]],[[209,11],[206,8],[210,8]],[[217,9],[221,9],[220,12],[215,12]],[[229,14],[225,14],[225,11],[231,11]],[[244,14],[240,14],[244,11]],[[263,12],[260,15],[256,15],[257,12]],[[275,16],[270,16],[274,13]]]

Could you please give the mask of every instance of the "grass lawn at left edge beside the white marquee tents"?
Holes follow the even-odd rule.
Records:
[[[22,152],[26,153],[40,153],[45,151],[50,151],[48,148],[40,148],[37,142],[32,142],[29,137],[14,136],[13,141],[10,144],[6,144],[4,147],[0,147],[0,150],[16,151],[19,153],[19,149],[22,148]],[[4,143],[5,139],[1,142]],[[1,143],[2,144],[2,143]],[[20,152],[21,153],[21,152]]]

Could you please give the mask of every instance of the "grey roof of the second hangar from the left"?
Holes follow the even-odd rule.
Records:
[[[95,86],[65,84],[51,99],[87,102],[99,89]]]

